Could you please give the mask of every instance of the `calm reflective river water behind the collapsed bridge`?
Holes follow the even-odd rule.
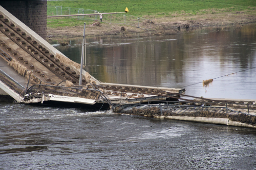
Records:
[[[82,40],[56,47],[80,63]],[[53,42],[57,44],[57,42]],[[123,39],[86,39],[87,71],[102,82],[184,87],[256,67],[256,24],[211,27],[184,34]],[[186,94],[208,98],[255,99],[256,68],[186,86]]]

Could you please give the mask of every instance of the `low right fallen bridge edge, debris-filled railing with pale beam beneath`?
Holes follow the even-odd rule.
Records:
[[[256,128],[256,115],[237,112],[226,107],[168,104],[112,104],[111,109],[117,114]]]

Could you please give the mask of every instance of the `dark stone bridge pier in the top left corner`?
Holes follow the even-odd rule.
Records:
[[[46,39],[47,0],[0,0],[0,6]]]

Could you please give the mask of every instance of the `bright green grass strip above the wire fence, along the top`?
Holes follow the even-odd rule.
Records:
[[[85,8],[104,12],[124,12],[128,7],[129,15],[166,15],[175,11],[196,14],[202,9],[230,8],[245,10],[255,7],[256,0],[59,0],[47,1],[48,5],[71,8]]]

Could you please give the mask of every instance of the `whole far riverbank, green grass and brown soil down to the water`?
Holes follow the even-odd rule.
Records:
[[[242,24],[256,22],[256,0],[226,0],[225,2],[223,0],[60,0],[47,1],[47,4],[48,15],[54,15],[50,6],[84,8],[100,12],[123,12],[128,7],[128,15],[153,21],[149,27],[149,23],[145,22],[145,19],[141,20],[140,27],[150,28],[149,32],[134,26],[120,24],[123,21],[118,21],[120,18],[124,19],[123,15],[120,15],[119,18],[116,17],[117,15],[112,17],[112,22],[116,21],[118,24],[107,23],[109,21],[107,21],[108,16],[106,15],[103,18],[106,23],[101,22],[100,25],[92,25],[96,22],[95,20],[70,17],[48,18],[47,32],[52,38],[82,36],[84,22],[86,22],[87,35],[120,34],[126,37],[130,37],[134,33],[145,33],[146,36],[148,34],[177,34],[184,31],[183,29],[187,30],[192,27],[234,24],[236,27],[241,27]],[[121,31],[122,26],[126,28],[126,31]],[[180,29],[177,29],[178,27]]]

